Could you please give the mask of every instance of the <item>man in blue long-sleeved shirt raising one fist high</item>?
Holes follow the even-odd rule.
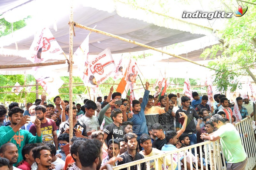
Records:
[[[148,128],[146,124],[146,117],[144,115],[145,107],[148,103],[148,94],[149,94],[149,83],[146,82],[146,90],[144,92],[142,103],[140,104],[139,100],[132,100],[132,118],[128,118],[128,121],[133,122],[133,133],[137,135],[137,141],[140,148],[140,151],[142,150],[140,146],[140,136],[143,133],[148,134]]]

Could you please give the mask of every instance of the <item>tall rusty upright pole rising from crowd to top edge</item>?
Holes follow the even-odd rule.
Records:
[[[70,1],[70,15],[69,15],[69,141],[73,137],[73,0]]]

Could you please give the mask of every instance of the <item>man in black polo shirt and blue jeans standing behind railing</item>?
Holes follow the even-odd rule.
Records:
[[[180,130],[180,124],[183,124],[184,118],[180,118],[179,112],[184,112],[188,116],[188,122],[184,133],[188,134],[190,145],[196,144],[196,130],[200,131],[200,117],[196,110],[189,105],[190,99],[187,96],[181,97],[182,106],[176,111],[176,130]],[[197,119],[195,125],[194,117]],[[192,153],[195,155],[195,149],[192,148]]]

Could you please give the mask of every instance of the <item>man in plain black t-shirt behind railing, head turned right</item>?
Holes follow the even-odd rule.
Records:
[[[154,140],[152,147],[161,151],[164,144],[167,144],[164,134],[164,128],[161,124],[155,123],[153,124],[152,129],[154,135],[158,138]]]

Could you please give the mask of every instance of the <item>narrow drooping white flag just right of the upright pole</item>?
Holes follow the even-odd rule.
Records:
[[[88,58],[89,58],[89,36],[85,38],[83,43],[76,49],[76,52],[74,53],[74,61],[78,66],[80,78],[83,80],[85,86],[89,84]]]

